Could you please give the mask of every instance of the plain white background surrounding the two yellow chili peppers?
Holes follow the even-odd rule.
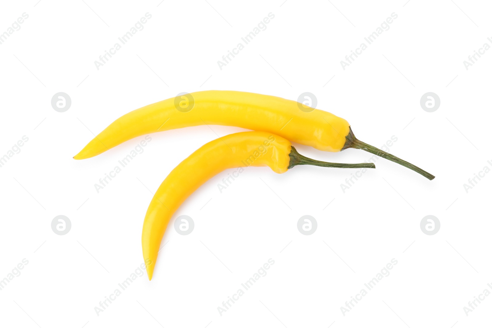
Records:
[[[208,1],[208,2],[207,2]],[[29,141],[0,168],[0,279],[29,264],[0,291],[2,327],[478,327],[490,323],[492,289],[488,174],[465,192],[490,151],[492,51],[463,60],[492,36],[487,1],[55,1],[3,2],[0,32],[29,18],[0,45],[0,156]],[[37,2],[37,3],[36,3]],[[159,3],[160,2],[160,3]],[[149,12],[152,18],[104,66],[98,60]],[[217,60],[272,12],[275,18],[229,64]],[[391,13],[398,18],[350,66],[340,60]],[[329,81],[329,82],[328,82]],[[328,82],[328,83],[327,83]],[[296,100],[347,119],[376,147],[431,172],[429,181],[393,162],[345,193],[354,170],[295,167],[277,175],[251,168],[219,192],[197,190],[173,217],[189,215],[187,236],[170,225],[152,281],[138,277],[103,312],[94,307],[143,262],[141,228],[161,181],[187,155],[236,127],[160,132],[104,189],[94,183],[144,137],[97,157],[72,156],[114,119],[179,92],[231,89]],[[57,92],[72,105],[51,107]],[[433,113],[420,107],[439,95]],[[92,131],[92,132],[91,132]],[[215,134],[216,133],[216,134]],[[362,162],[363,150],[325,161]],[[261,180],[261,179],[263,180]],[[148,188],[148,189],[147,189]],[[328,205],[329,204],[329,205]],[[57,215],[71,230],[51,230]],[[297,230],[316,218],[311,236]],[[439,232],[420,221],[435,215]],[[265,277],[227,312],[217,306],[268,259]],[[398,264],[359,303],[355,296],[391,259]],[[478,303],[477,303],[478,304]],[[207,326],[208,325],[208,326]]]

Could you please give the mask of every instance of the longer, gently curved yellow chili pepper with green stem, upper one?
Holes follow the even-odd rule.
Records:
[[[434,179],[433,175],[415,165],[355,138],[345,119],[318,109],[306,112],[300,109],[303,106],[297,101],[257,93],[217,90],[192,92],[123,115],[73,158],[89,158],[129,139],[153,132],[215,124],[268,131],[324,151],[364,149],[403,165],[427,179]]]

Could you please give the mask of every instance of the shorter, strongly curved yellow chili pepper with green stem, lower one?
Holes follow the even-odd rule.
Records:
[[[244,170],[248,166],[269,166],[276,173],[284,173],[304,164],[336,168],[375,167],[373,163],[341,164],[307,158],[288,140],[262,131],[229,134],[197,149],[164,179],[145,214],[142,251],[146,263],[151,262],[147,267],[149,280],[169,220],[184,200],[207,180],[230,168]]]

